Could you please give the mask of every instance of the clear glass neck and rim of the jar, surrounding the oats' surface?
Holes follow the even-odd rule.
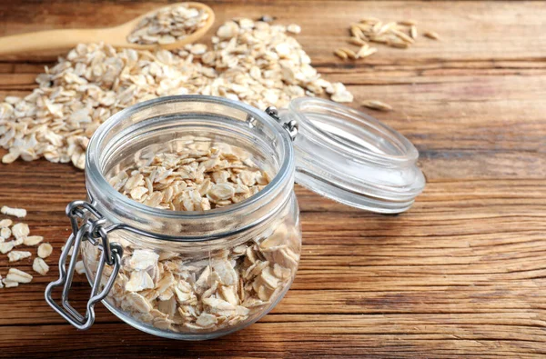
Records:
[[[238,204],[206,212],[157,209],[130,200],[108,184],[106,173],[145,145],[166,136],[208,131],[254,149],[276,175],[258,194]],[[209,241],[248,232],[268,222],[288,203],[294,184],[293,150],[288,133],[267,114],[212,96],[169,96],[123,110],[101,125],[86,154],[86,186],[97,210],[110,223],[176,237]]]

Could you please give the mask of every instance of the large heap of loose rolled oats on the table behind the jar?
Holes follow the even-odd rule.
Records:
[[[89,138],[99,125],[158,96],[216,95],[263,109],[322,95],[331,86],[285,26],[249,19],[221,25],[210,48],[196,44],[150,52],[77,45],[36,82],[32,94],[0,103],[0,146],[9,150],[4,163],[45,157],[83,168]],[[329,94],[334,101],[352,99],[345,89]]]

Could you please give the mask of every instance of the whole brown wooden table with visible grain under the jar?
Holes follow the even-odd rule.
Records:
[[[23,3],[23,4],[18,4]],[[208,2],[227,18],[276,15],[329,80],[420,150],[428,184],[406,214],[335,204],[301,187],[304,246],[298,277],[275,310],[237,334],[200,343],[143,334],[102,305],[81,333],[45,304],[45,284],[68,234],[66,204],[84,198],[84,175],[45,160],[0,165],[0,204],[55,245],[53,270],[0,290],[0,356],[540,356],[546,354],[546,3]],[[35,1],[0,4],[0,34],[104,26],[159,2]],[[363,16],[414,18],[441,42],[380,47],[365,62],[332,51]],[[0,63],[0,97],[25,95],[50,62]],[[30,262],[18,265],[30,271]],[[7,272],[0,256],[0,274]],[[87,284],[77,279],[76,300]]]

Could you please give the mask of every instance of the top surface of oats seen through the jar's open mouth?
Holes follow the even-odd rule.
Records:
[[[269,175],[241,148],[195,138],[177,153],[159,153],[151,162],[113,174],[109,182],[121,194],[148,206],[207,211],[258,193],[268,184]],[[138,265],[149,261],[157,258],[135,259]]]

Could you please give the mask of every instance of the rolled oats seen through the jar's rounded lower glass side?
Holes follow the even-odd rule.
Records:
[[[174,332],[213,332],[251,320],[288,288],[298,266],[298,237],[284,224],[203,256],[133,246],[125,246],[108,300],[139,321]],[[92,270],[95,254],[84,256]]]

